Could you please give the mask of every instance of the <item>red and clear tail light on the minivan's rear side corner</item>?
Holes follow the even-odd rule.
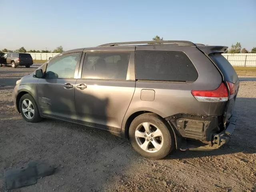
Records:
[[[224,102],[228,100],[228,89],[222,82],[215,90],[192,90],[192,95],[202,102]]]

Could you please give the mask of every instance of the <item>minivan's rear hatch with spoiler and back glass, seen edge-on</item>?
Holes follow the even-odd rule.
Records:
[[[222,53],[228,47],[225,46],[197,46],[204,54],[206,54],[212,62],[214,62],[215,66],[218,68],[223,77],[223,82],[226,84],[228,88],[228,102],[224,111],[224,124],[228,122],[228,119],[232,116],[232,112],[235,106],[236,96],[239,88],[239,79],[236,74],[236,71],[222,56]]]

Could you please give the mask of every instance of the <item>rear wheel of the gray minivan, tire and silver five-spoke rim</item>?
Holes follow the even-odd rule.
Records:
[[[149,132],[146,131],[144,126],[149,127]],[[154,134],[161,136],[156,137]],[[172,130],[170,130],[164,120],[154,113],[137,116],[130,125],[129,137],[134,150],[142,156],[151,159],[162,159],[174,148],[174,134]],[[145,146],[147,147],[145,148]]]

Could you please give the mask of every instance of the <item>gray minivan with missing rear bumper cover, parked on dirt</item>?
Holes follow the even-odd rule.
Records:
[[[129,138],[148,158],[219,148],[235,128],[239,87],[226,49],[144,41],[66,51],[16,82],[14,105],[28,122],[54,118]]]

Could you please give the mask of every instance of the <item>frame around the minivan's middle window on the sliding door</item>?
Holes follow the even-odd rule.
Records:
[[[92,78],[82,78],[82,69],[84,66],[84,60],[86,58],[86,54],[88,53],[129,53],[130,54],[130,59],[128,62],[128,68],[127,68],[127,73],[126,73],[126,79],[92,79]],[[78,72],[78,79],[81,80],[104,80],[104,81],[135,81],[135,66],[134,66],[134,60],[135,60],[135,50],[86,50],[83,53],[81,62],[80,62],[80,67],[79,67],[79,72]],[[133,72],[133,74],[132,74]]]

